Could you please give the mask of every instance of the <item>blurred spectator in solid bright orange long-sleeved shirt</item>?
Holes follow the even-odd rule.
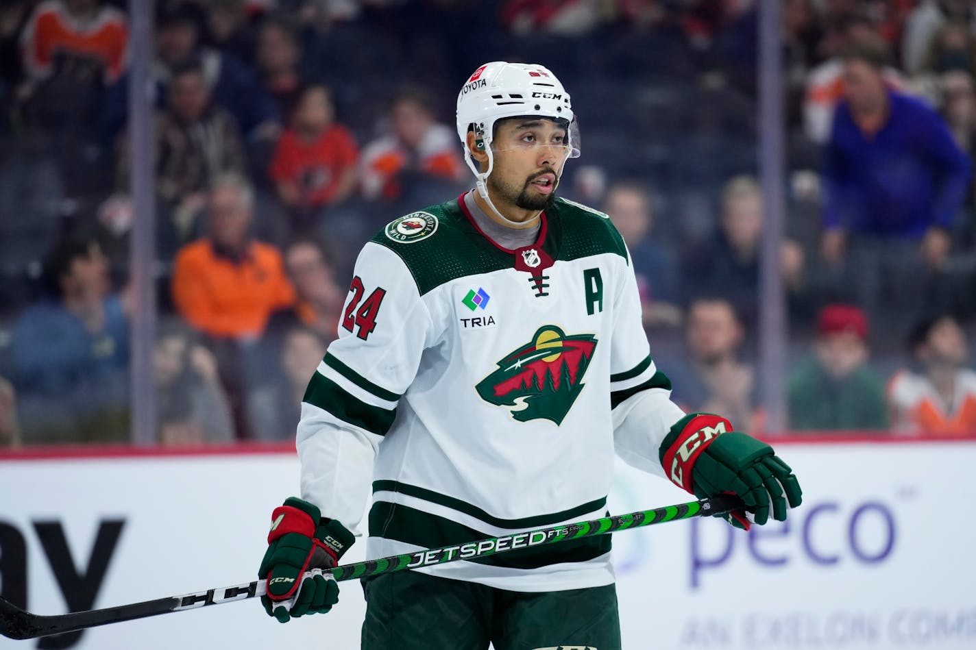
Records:
[[[291,305],[295,292],[281,254],[254,241],[254,193],[237,175],[213,184],[207,198],[208,236],[177,254],[173,300],[193,327],[211,337],[255,340],[278,307]]]

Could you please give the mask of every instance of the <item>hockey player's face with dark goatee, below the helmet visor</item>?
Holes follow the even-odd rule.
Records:
[[[566,129],[551,120],[502,122],[492,142],[495,166],[488,187],[493,197],[522,210],[545,210],[555,198],[568,153]]]

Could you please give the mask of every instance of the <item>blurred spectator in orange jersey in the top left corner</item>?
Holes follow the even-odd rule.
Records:
[[[46,0],[24,26],[20,54],[34,80],[69,66],[110,83],[122,74],[128,38],[125,16],[100,0]]]

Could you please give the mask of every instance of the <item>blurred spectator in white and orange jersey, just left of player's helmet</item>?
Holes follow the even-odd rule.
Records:
[[[457,155],[457,140],[453,130],[436,122],[424,93],[401,92],[390,105],[389,134],[363,149],[363,194],[395,200],[417,181],[460,182],[465,170]]]

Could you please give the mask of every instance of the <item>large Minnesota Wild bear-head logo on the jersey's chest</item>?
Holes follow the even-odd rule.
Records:
[[[590,334],[566,336],[544,325],[475,388],[486,402],[509,407],[518,422],[543,418],[559,425],[583,390],[596,343]]]

